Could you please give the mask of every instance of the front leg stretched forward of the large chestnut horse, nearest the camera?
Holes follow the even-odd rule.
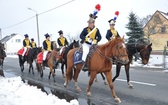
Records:
[[[111,81],[111,79],[112,79],[112,71],[109,70],[108,72],[105,72],[105,75],[106,75],[107,81],[108,81],[108,83],[109,83],[109,87],[110,87],[110,89],[111,89],[112,96],[113,96],[114,100],[115,100],[116,102],[118,102],[118,103],[121,103],[120,98],[118,98],[117,95],[115,94],[113,82]]]

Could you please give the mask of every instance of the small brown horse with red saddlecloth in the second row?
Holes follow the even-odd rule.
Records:
[[[37,58],[39,58],[40,55],[42,55],[42,52],[38,54]],[[61,58],[59,56],[59,51],[57,49],[54,49],[54,50],[48,52],[48,54],[47,54],[45,66],[49,67],[49,69],[50,69],[48,79],[50,79],[50,76],[52,74],[54,82],[55,82],[55,68],[57,67],[56,64],[57,64],[57,61],[59,61],[60,59]],[[36,65],[37,65],[37,70],[40,73],[40,76],[42,78],[43,77],[42,62],[37,61]]]

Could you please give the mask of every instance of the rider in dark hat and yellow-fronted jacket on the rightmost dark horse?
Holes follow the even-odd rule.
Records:
[[[114,19],[110,19],[108,22],[110,24],[110,29],[107,30],[106,39],[110,41],[114,37],[120,37],[120,35],[118,34],[117,30],[115,30],[114,27],[116,21]]]

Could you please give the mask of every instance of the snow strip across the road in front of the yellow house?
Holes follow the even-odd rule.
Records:
[[[163,68],[163,55],[151,55],[147,65],[143,65],[140,60],[133,61],[131,66],[146,68]],[[168,56],[166,57],[166,66],[168,67]]]

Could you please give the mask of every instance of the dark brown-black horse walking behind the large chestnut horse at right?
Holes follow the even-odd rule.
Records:
[[[121,64],[121,63],[116,64],[116,75],[112,79],[112,82],[114,82],[116,80],[116,78],[120,75],[121,66],[124,65],[125,66],[126,78],[127,78],[127,84],[129,86],[129,88],[133,88],[133,85],[130,83],[130,75],[129,75],[129,69],[130,69],[130,64],[133,60],[133,55],[135,55],[137,53],[140,53],[140,57],[142,59],[142,64],[146,65],[149,61],[150,54],[151,54],[151,51],[152,51],[152,43],[149,44],[149,45],[128,44],[127,43],[126,47],[127,47],[129,62],[127,64]],[[105,81],[105,77],[102,73],[101,73],[101,76],[102,76],[103,80]]]

